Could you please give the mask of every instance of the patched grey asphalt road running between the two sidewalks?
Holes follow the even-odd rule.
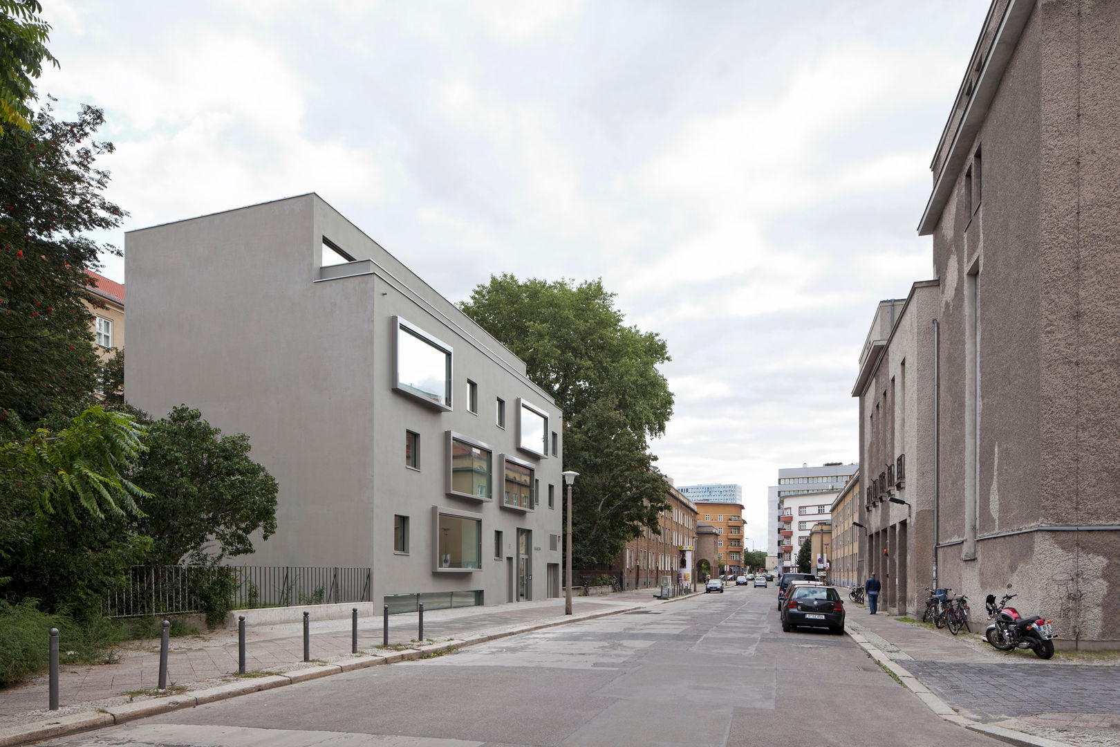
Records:
[[[774,603],[732,587],[46,744],[1002,744],[934,716],[847,636],[782,633]]]

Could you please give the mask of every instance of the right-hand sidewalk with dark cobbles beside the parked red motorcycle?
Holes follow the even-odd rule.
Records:
[[[1120,747],[1120,660],[1060,651],[1043,661],[992,648],[986,625],[953,636],[844,606],[851,637],[943,718],[1011,744]]]

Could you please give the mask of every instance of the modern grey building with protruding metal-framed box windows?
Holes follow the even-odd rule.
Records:
[[[560,595],[561,413],[412,270],[315,194],[125,246],[129,401],[248,433],[280,484],[240,561],[370,568],[394,608]]]

